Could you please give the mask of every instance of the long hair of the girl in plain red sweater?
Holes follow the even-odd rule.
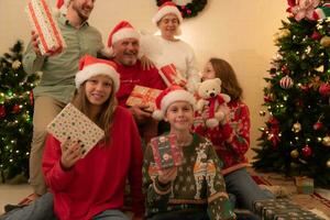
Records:
[[[76,90],[76,94],[75,94],[75,97],[74,97],[72,103],[77,109],[79,109],[82,113],[85,113],[89,119],[91,119],[90,112],[89,112],[90,102],[88,101],[86,92],[85,92],[85,85],[86,85],[86,81],[84,84],[81,84],[79,89]],[[112,89],[113,89],[113,86],[112,86]],[[113,123],[113,113],[116,111],[117,106],[118,106],[118,101],[116,98],[116,92],[112,90],[109,99],[102,105],[102,109],[99,112],[97,120],[94,121],[96,124],[98,124],[105,131],[105,142],[106,143],[109,143],[111,141],[110,132],[111,132],[111,128],[112,128],[112,123]]]

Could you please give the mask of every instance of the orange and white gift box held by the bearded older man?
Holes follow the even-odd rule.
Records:
[[[154,111],[155,100],[162,92],[160,89],[153,89],[136,85],[127,100],[127,106],[148,105],[146,111]]]

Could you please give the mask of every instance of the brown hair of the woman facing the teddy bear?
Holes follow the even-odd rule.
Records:
[[[231,100],[241,100],[243,90],[231,65],[224,59],[215,57],[209,62],[216,72],[216,77],[222,81],[222,92],[229,95]]]

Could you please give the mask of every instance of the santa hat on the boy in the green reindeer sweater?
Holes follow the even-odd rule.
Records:
[[[169,105],[175,101],[187,101],[195,109],[196,99],[193,94],[179,86],[170,86],[163,90],[156,98],[156,109],[153,112],[153,118],[162,120]]]

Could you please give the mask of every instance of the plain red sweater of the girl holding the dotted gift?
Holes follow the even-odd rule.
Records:
[[[136,125],[130,111],[122,107],[114,112],[111,143],[97,144],[69,170],[63,170],[59,165],[59,142],[48,135],[43,172],[54,195],[56,216],[61,220],[89,220],[107,209],[121,209],[127,177],[133,211],[142,216],[142,157]]]

